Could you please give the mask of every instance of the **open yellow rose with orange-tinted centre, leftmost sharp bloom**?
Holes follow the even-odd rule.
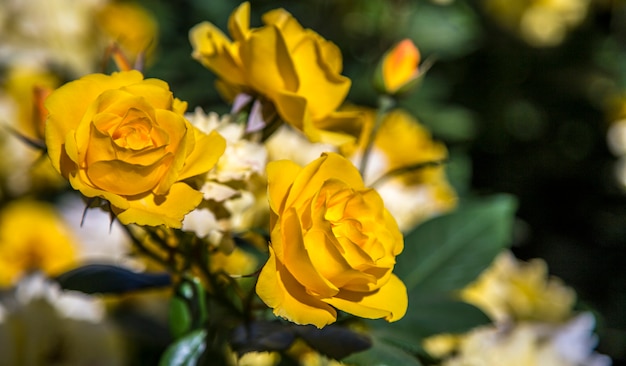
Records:
[[[180,227],[202,194],[183,180],[210,170],[226,143],[184,117],[167,83],[138,71],[92,74],[46,100],[46,145],[54,168],[123,224]]]

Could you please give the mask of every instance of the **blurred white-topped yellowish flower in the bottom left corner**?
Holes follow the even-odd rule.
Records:
[[[123,364],[121,339],[97,298],[62,291],[41,274],[0,295],[0,365]]]

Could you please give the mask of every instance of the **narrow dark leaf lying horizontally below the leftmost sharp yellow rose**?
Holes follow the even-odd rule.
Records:
[[[88,264],[65,272],[56,278],[65,290],[87,294],[120,294],[130,291],[166,287],[172,279],[167,273],[142,273],[109,264]]]

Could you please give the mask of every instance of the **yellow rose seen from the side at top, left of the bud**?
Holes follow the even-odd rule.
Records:
[[[284,9],[266,13],[260,28],[250,29],[249,20],[245,2],[228,23],[233,41],[209,22],[189,33],[193,57],[217,74],[222,94],[230,100],[242,92],[269,100],[312,141],[352,140],[358,117],[336,111],[350,89],[350,79],[341,75],[339,48],[302,28]]]

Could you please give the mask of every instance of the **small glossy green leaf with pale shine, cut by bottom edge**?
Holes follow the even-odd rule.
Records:
[[[161,357],[159,366],[196,366],[205,349],[206,330],[189,333],[172,343]]]

